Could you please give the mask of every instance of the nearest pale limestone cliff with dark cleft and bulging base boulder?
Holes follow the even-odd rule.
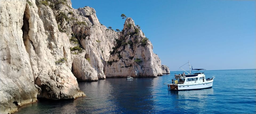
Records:
[[[0,113],[17,111],[37,97],[84,96],[71,72],[69,38],[59,32],[53,11],[38,9],[35,1],[0,4]]]

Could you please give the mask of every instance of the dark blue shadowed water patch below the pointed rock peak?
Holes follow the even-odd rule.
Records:
[[[151,89],[153,79],[106,79],[111,85],[110,100],[118,107],[114,112],[150,113],[154,102]]]

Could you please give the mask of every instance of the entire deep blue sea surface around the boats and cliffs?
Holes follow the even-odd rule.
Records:
[[[110,78],[97,82],[79,82],[87,97],[69,101],[45,101],[19,108],[16,114],[80,113],[256,113],[256,70],[211,70],[206,78],[216,76],[210,89],[170,91],[166,81],[171,72],[156,78]]]

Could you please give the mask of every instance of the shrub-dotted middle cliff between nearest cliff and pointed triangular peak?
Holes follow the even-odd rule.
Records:
[[[47,3],[38,1],[38,7],[52,10],[50,14],[56,17],[58,29],[68,35],[72,63],[67,64],[71,66],[75,77],[79,81],[106,79],[106,61],[118,33],[100,24],[96,11],[91,7],[73,9],[70,1]],[[49,15],[47,11],[39,14],[44,14],[41,17]]]

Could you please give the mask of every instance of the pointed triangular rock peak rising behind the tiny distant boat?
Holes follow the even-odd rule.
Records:
[[[161,60],[153,45],[131,18],[116,39],[105,69],[106,77],[157,77],[162,75]]]

